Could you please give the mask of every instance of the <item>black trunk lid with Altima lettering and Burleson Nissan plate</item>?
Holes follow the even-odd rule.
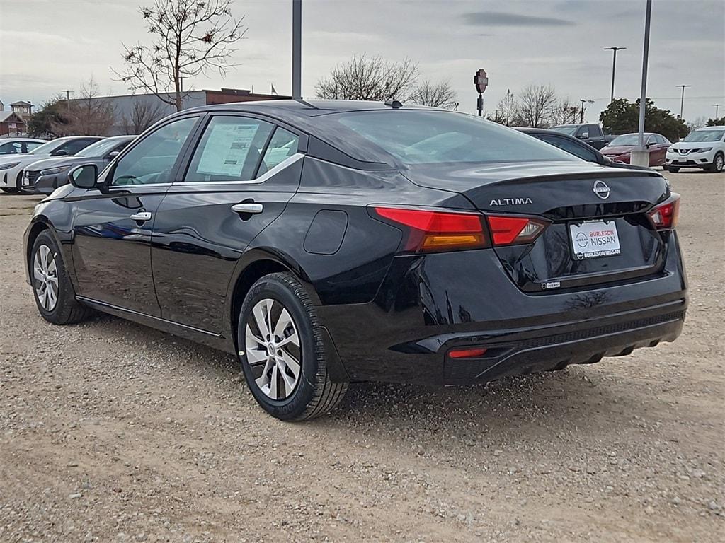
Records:
[[[436,164],[404,173],[416,185],[465,195],[489,216],[521,214],[550,221],[533,243],[494,248],[510,278],[526,292],[634,280],[663,269],[668,236],[654,229],[646,212],[670,191],[655,172],[547,162]],[[581,230],[587,236],[608,234],[585,243],[616,235],[619,247],[602,245],[608,248],[604,256],[591,256],[602,252],[593,245],[578,253],[581,245],[574,237]]]

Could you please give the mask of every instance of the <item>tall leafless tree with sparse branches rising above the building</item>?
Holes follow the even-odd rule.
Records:
[[[225,75],[233,43],[244,38],[244,17],[231,17],[232,0],[156,0],[140,7],[155,38],[150,46],[123,45],[123,72],[115,72],[130,90],[154,93],[160,100],[183,108],[186,77],[218,70]]]

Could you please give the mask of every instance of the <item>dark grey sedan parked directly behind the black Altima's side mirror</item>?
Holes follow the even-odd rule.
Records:
[[[107,167],[110,161],[127,146],[135,135],[114,136],[91,143],[72,156],[56,156],[33,162],[22,174],[22,191],[26,193],[50,194],[68,182],[68,170],[78,164],[96,164],[98,171]]]

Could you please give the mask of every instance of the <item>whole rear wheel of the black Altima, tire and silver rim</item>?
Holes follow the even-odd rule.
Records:
[[[244,379],[270,415],[302,421],[340,403],[347,383],[331,382],[315,307],[291,274],[259,279],[239,314],[237,345]]]

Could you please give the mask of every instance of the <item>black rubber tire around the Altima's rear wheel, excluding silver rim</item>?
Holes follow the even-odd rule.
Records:
[[[299,338],[299,350],[297,351],[300,356],[299,376],[289,395],[282,399],[270,397],[270,394],[262,391],[262,387],[255,380],[262,379],[262,374],[265,374],[265,370],[268,369],[270,364],[269,360],[274,357],[268,358],[268,361],[260,361],[258,357],[255,357],[257,359],[254,366],[252,366],[247,355],[247,325],[249,325],[255,337],[264,335],[262,329],[257,326],[257,320],[252,314],[254,307],[259,303],[264,303],[263,300],[273,300],[274,305],[273,311],[270,311],[271,313],[276,311],[279,316],[283,309],[289,312],[292,327],[287,329],[287,332],[290,333],[290,331],[296,330]],[[272,320],[273,316],[270,316],[270,321]],[[267,340],[267,338],[262,337],[262,340]],[[267,413],[276,418],[283,421],[302,421],[322,416],[335,408],[344,397],[345,392],[347,392],[348,383],[334,383],[329,379],[320,319],[318,319],[315,307],[312,305],[312,301],[305,292],[304,287],[291,274],[265,275],[252,285],[244,298],[239,313],[237,341],[239,359],[249,390],[252,391],[257,403]],[[259,344],[258,347],[265,347],[261,342],[257,343]],[[290,346],[289,343],[288,346]],[[291,345],[291,347],[297,349],[294,345]],[[266,352],[268,353],[269,350]],[[277,352],[281,353],[281,351]],[[262,350],[257,350],[257,353],[262,353]],[[273,366],[270,366],[269,371],[266,372],[268,377],[274,375],[272,370]],[[290,378],[292,374],[287,373],[286,376]],[[268,380],[271,382],[271,379]],[[280,383],[281,388],[276,386],[277,392],[285,390],[284,383]]]

